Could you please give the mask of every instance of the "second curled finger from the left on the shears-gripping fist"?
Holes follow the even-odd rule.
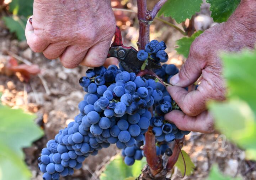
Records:
[[[51,43],[44,51],[43,54],[48,59],[56,59],[62,55],[68,44],[66,42]]]

